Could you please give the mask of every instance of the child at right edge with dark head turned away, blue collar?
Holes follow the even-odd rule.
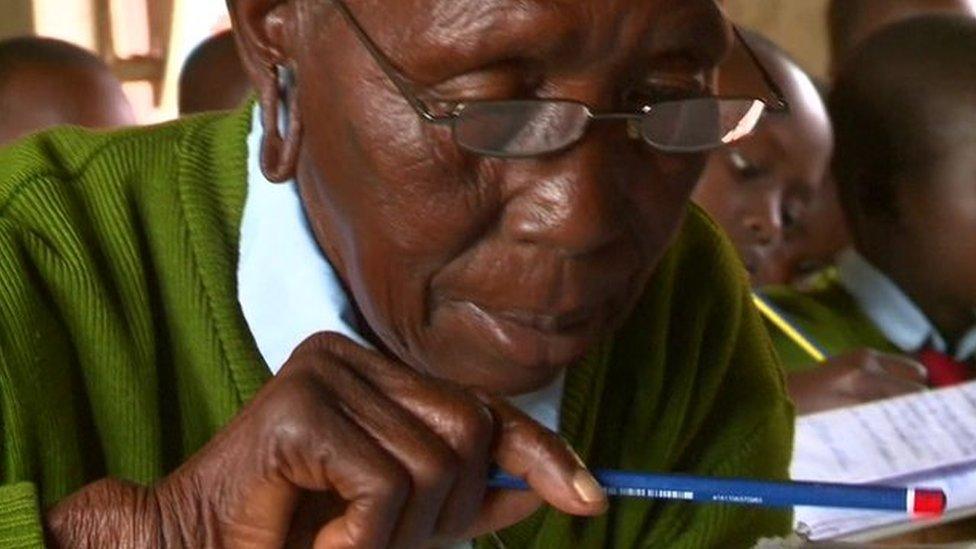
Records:
[[[854,250],[817,288],[765,291],[800,332],[838,357],[814,368],[796,338],[772,330],[789,371],[813,368],[790,376],[801,410],[810,409],[803,399],[850,403],[854,370],[837,362],[858,355],[863,362],[866,349],[919,360],[931,386],[976,373],[973,52],[976,20],[921,16],[869,38],[838,74],[833,168]]]

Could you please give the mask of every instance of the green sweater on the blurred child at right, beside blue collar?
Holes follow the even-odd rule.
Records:
[[[841,286],[835,269],[818,275],[809,288],[774,286],[764,288],[761,293],[787,322],[813,340],[828,356],[863,348],[901,353]],[[767,323],[767,328],[788,372],[816,367],[816,360],[782,330],[771,323]]]

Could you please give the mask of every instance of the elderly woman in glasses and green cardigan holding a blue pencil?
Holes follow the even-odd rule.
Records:
[[[0,153],[0,545],[786,531],[586,468],[786,475],[781,375],[688,207],[764,105],[711,96],[715,4],[379,4],[234,0],[258,105]]]

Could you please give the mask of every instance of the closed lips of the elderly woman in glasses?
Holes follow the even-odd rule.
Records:
[[[496,311],[471,301],[453,301],[449,306],[465,328],[486,339],[506,359],[526,367],[565,366],[582,358],[599,328],[593,310]]]

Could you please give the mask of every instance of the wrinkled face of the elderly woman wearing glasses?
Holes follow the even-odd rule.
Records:
[[[632,110],[697,94],[724,53],[710,0],[350,0],[430,104],[568,98]],[[541,387],[632,310],[702,165],[616,123],[522,160],[424,123],[328,2],[299,10],[298,178],[314,232],[377,341],[502,393]]]

